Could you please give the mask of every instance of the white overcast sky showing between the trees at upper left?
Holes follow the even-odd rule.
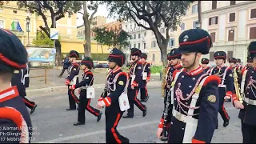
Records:
[[[83,11],[83,10],[82,10]],[[90,14],[92,14],[94,11],[89,11]],[[105,16],[107,18],[107,15],[109,14],[109,12],[107,11],[106,9],[106,5],[100,5],[98,6],[98,11],[96,14],[94,14],[94,17],[95,16]],[[83,20],[82,20],[82,14],[77,14],[77,26],[81,26],[83,24]],[[109,23],[109,22],[114,22],[114,18],[107,18],[106,19],[106,23]]]

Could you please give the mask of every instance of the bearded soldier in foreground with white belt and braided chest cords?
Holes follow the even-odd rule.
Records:
[[[199,61],[209,53],[212,41],[206,30],[191,29],[182,32],[179,45],[183,70],[173,74],[168,143],[210,143],[218,121],[220,78],[206,74]],[[158,138],[160,134],[158,129]]]

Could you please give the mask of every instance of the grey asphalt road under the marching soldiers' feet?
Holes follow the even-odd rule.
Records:
[[[142,111],[134,106],[134,118],[122,118],[118,124],[120,134],[130,139],[133,143],[159,143],[156,138],[158,122],[162,115],[163,99],[160,88],[149,88],[150,98],[145,102],[147,106],[146,117],[142,117]],[[96,89],[96,94],[102,93]],[[38,108],[31,114],[34,127],[34,141],[32,142],[105,142],[105,114],[103,109],[102,119],[96,122],[96,117],[86,112],[86,125],[73,126],[77,122],[78,110],[66,111],[68,108],[68,96],[66,91],[54,95],[30,96],[38,104]],[[139,98],[139,95],[138,95]],[[91,101],[91,106],[96,105],[98,98]],[[219,119],[218,130],[214,132],[214,143],[241,143],[241,123],[238,119],[238,110],[230,102],[225,103],[230,115],[230,125],[224,128],[222,118]],[[125,112],[126,114],[126,112]]]

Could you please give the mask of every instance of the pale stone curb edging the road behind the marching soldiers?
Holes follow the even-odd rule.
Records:
[[[102,84],[94,84],[94,88],[95,89],[100,89],[103,88],[105,86],[105,83]],[[149,82],[147,84],[147,86],[149,87],[159,87],[162,86],[162,82]],[[42,89],[34,89],[34,90],[26,90],[26,95],[27,96],[32,96],[32,95],[37,95],[37,94],[53,94],[54,92],[58,92],[58,91],[62,91],[62,90],[67,90],[67,86],[49,86],[49,87],[45,87]]]

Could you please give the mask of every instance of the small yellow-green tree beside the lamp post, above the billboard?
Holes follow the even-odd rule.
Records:
[[[35,46],[50,46],[53,47],[54,46],[54,41],[51,40],[47,34],[42,31],[42,30],[38,30],[37,31],[37,37],[33,40],[32,42]]]

